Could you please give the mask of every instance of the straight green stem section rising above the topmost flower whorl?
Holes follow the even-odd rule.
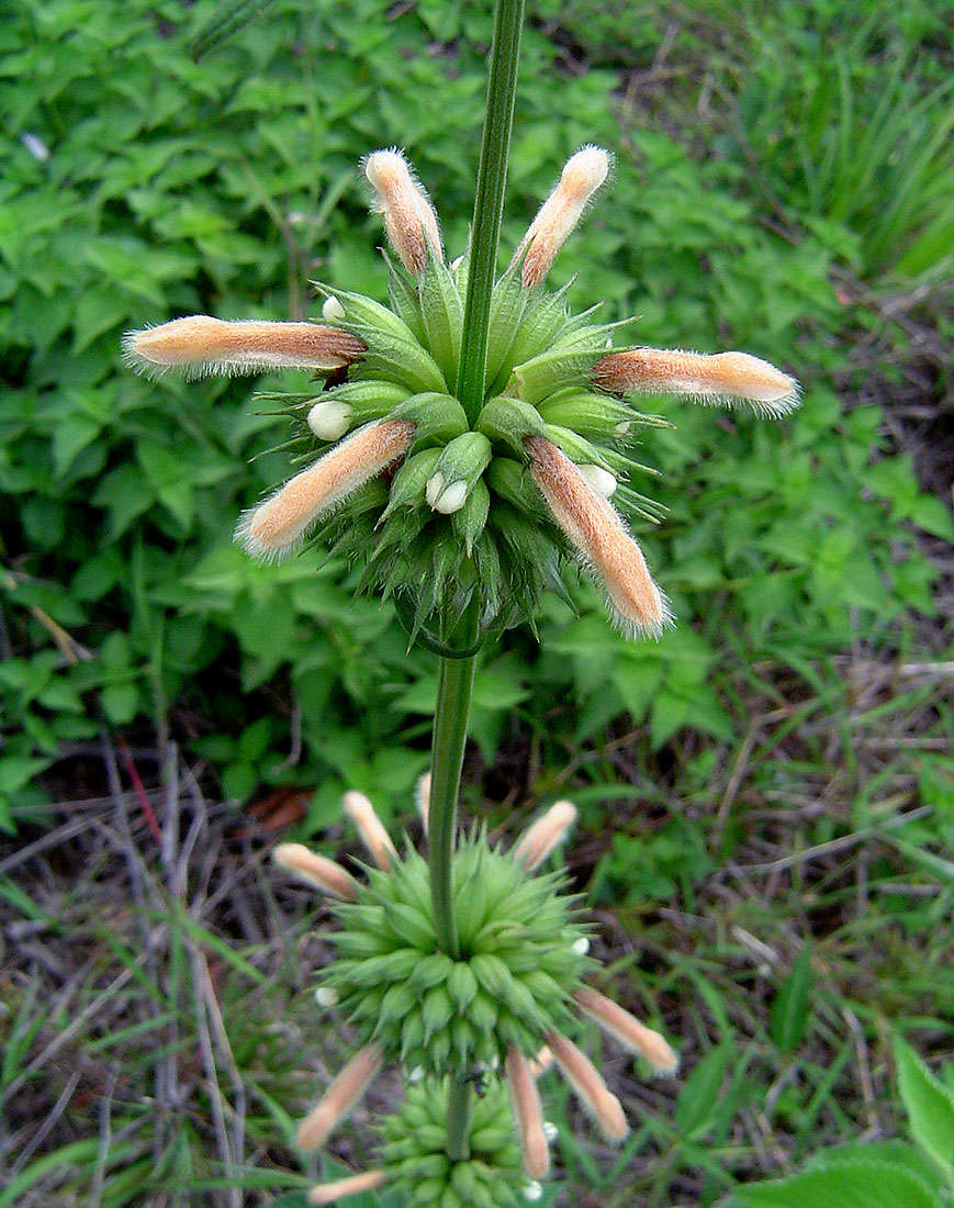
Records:
[[[524,0],[496,0],[494,43],[487,81],[487,118],[477,170],[477,198],[471,231],[471,262],[464,303],[456,393],[471,424],[483,405],[487,372],[487,331],[496,275],[496,250],[504,216],[510,135],[517,97]]]

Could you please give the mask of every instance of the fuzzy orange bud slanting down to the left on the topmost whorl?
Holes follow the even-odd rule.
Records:
[[[402,457],[413,435],[414,425],[406,419],[362,428],[266,503],[245,512],[235,528],[235,540],[255,558],[284,557],[322,513]]]

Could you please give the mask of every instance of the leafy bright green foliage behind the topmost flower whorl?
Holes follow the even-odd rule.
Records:
[[[208,756],[229,797],[314,789],[310,829],[345,785],[385,813],[407,808],[427,759],[434,660],[407,652],[390,610],[355,603],[342,565],[261,568],[231,545],[239,509],[286,472],[281,454],[258,457],[284,439],[280,422],[245,381],[136,379],[118,341],[191,312],[314,313],[309,275],[383,296],[355,169],[373,147],[407,149],[463,246],[489,13],[283,0],[197,64],[188,37],[209,7],[27,0],[0,29],[6,827],[39,817],[37,773],[62,785],[60,761],[101,726],[152,720]],[[580,273],[575,304],[641,314],[647,343],[767,356],[799,376],[805,401],[784,425],[661,403],[679,428],[652,434],[645,460],[671,516],[640,536],[679,629],[624,643],[575,587],[578,616],[554,602],[541,649],[514,634],[487,652],[473,736],[489,759],[514,718],[578,742],[628,713],[653,748],[683,727],[729,739],[744,702],[726,660],[804,668],[859,632],[903,644],[909,610],[932,611],[912,525],[950,536],[950,517],[886,452],[879,410],[845,412],[832,387],[845,315],[830,268],[857,214],[821,210],[796,243],[780,237],[743,162],[700,159],[626,110],[621,121],[616,64],[566,71],[552,6],[534,16],[505,249],[569,152],[612,147],[615,186],[557,281]],[[658,29],[640,11],[627,39],[639,62]],[[749,93],[741,106],[758,109]],[[787,161],[770,140],[756,150]],[[570,702],[555,730],[554,701]],[[650,893],[669,883],[659,855]],[[612,859],[605,871],[612,881]]]

